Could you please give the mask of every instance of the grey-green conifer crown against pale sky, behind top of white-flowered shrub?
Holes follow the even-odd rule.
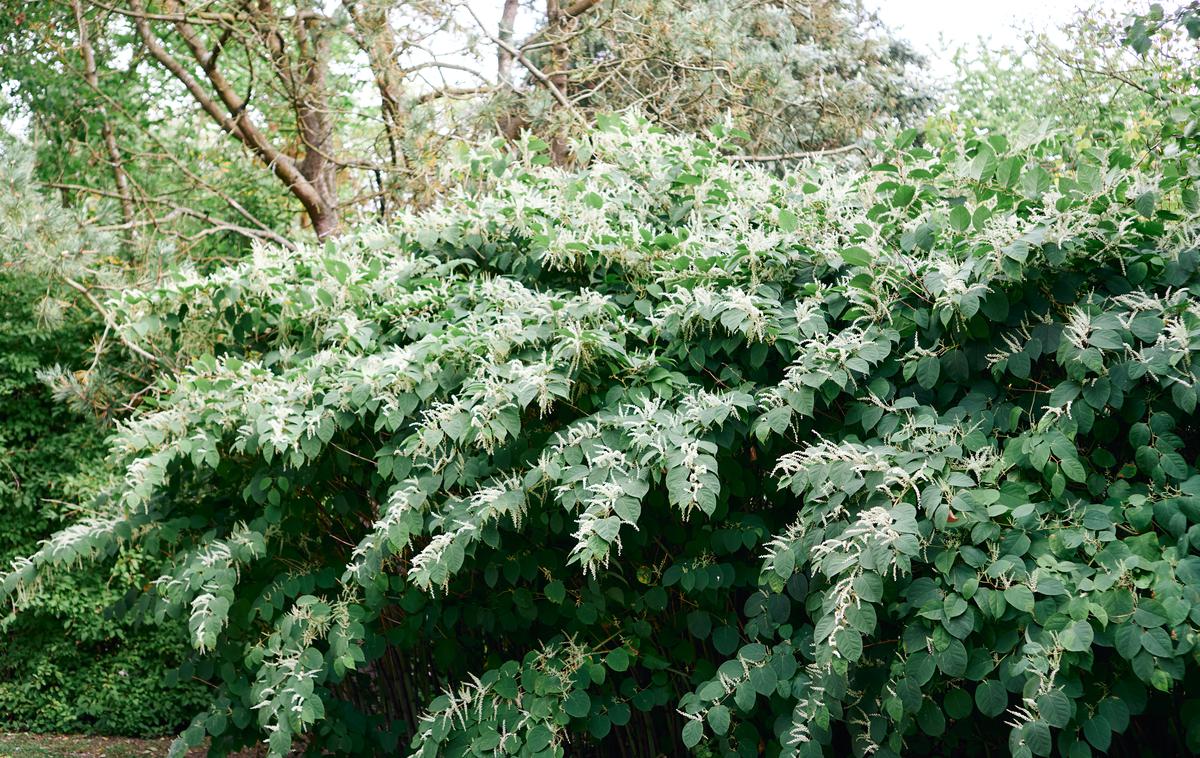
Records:
[[[638,106],[683,133],[728,118],[749,136],[739,150],[762,156],[852,144],[930,106],[917,54],[859,2],[613,7],[619,12],[584,24],[568,43],[565,86],[587,92],[578,101],[590,114]],[[626,61],[619,76],[613,61]],[[526,106],[534,124],[551,112],[550,96],[540,100]]]

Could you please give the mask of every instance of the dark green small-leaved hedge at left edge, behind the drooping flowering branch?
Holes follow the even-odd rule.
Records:
[[[95,319],[47,329],[38,319],[44,279],[0,273],[0,560],[7,564],[76,521],[72,504],[107,468],[101,427],[55,401],[37,377],[88,355]],[[151,566],[140,552],[122,552],[115,564],[54,577],[0,618],[5,729],[157,735],[187,722],[205,700],[194,684],[168,684],[166,672],[186,655],[178,627],[106,614]]]

